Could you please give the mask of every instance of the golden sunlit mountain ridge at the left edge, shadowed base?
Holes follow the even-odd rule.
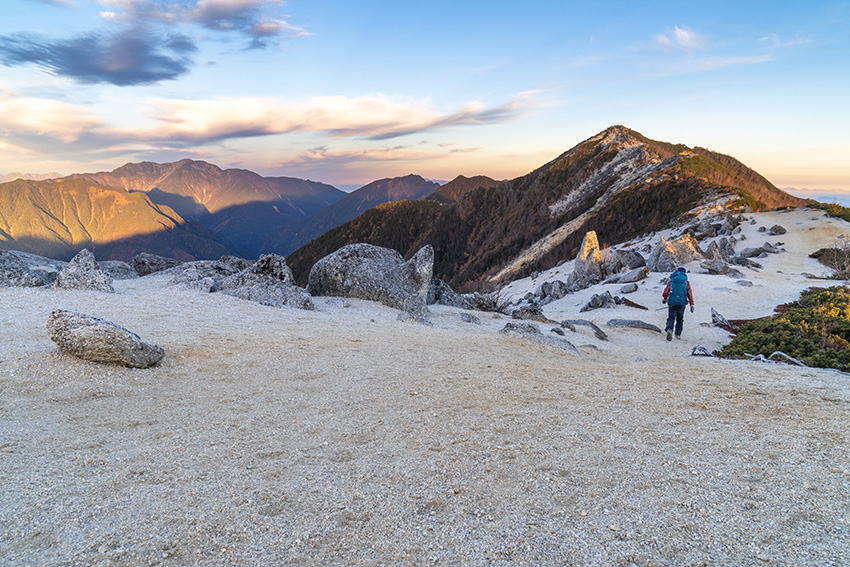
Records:
[[[82,248],[101,260],[151,252],[181,260],[234,251],[220,236],[144,193],[86,179],[0,184],[0,248],[68,260]]]

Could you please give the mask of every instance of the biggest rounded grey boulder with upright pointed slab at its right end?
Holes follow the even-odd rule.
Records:
[[[312,295],[379,301],[424,316],[433,270],[431,246],[423,247],[405,262],[401,254],[389,248],[349,244],[316,262],[307,290]]]

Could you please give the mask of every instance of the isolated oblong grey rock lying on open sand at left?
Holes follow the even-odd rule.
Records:
[[[92,362],[148,368],[165,356],[161,347],[123,327],[72,311],[51,313],[47,333],[61,351]]]

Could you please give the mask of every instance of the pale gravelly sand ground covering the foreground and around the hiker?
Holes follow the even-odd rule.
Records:
[[[784,269],[817,268],[785,242]],[[444,307],[424,326],[158,276],[0,289],[0,565],[848,565],[850,378],[690,356],[728,339],[699,325],[707,290],[733,290],[715,305],[730,318],[757,312],[796,297],[777,270],[751,288],[692,279],[685,340],[567,332],[578,354]],[[548,313],[578,317],[569,301]],[[166,358],[62,355],[56,308]],[[581,316],[641,317],[599,311]]]

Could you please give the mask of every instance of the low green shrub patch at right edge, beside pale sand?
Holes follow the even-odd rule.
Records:
[[[782,351],[809,366],[850,372],[850,290],[810,289],[787,308],[745,324],[717,354],[742,358]]]

